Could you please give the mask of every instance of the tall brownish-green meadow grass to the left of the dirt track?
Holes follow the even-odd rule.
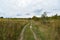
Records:
[[[24,19],[0,18],[0,40],[17,40],[27,23]]]

